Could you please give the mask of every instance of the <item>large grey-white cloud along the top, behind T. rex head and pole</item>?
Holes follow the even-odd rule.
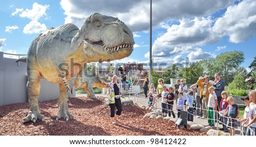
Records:
[[[180,18],[195,18],[209,15],[233,5],[234,1],[154,1],[152,2],[152,27],[160,26],[160,23],[168,19],[179,20]],[[60,5],[65,11],[64,14],[67,15],[65,23],[73,23],[78,27],[82,26],[82,23],[84,23],[88,16],[94,12],[99,12],[103,15],[118,17],[133,32],[148,31],[150,28],[150,2],[148,0],[61,0]]]

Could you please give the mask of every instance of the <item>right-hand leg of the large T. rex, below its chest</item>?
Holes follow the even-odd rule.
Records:
[[[67,89],[64,83],[59,84],[60,97],[59,97],[59,112],[57,114],[56,120],[58,119],[75,119],[75,117],[68,111],[68,102],[67,102]]]

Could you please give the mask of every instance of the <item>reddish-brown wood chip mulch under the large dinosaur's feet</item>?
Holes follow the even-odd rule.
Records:
[[[27,116],[29,104],[16,103],[0,106],[1,136],[202,136],[206,135],[190,128],[175,128],[175,124],[166,120],[143,119],[149,111],[137,106],[123,106],[118,124],[110,122],[110,108],[104,99],[90,99],[77,96],[69,99],[69,112],[76,119],[55,120],[58,101],[39,102],[44,121],[37,120],[22,123]]]

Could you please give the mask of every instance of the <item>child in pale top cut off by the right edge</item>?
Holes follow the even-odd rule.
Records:
[[[256,90],[250,91],[249,98],[251,100],[251,103],[249,107],[249,123],[245,125],[245,127],[247,127],[246,135],[255,136],[256,135]]]

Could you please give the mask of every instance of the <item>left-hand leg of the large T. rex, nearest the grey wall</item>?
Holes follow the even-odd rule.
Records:
[[[28,115],[23,118],[22,122],[26,123],[32,121],[33,123],[36,120],[40,119],[43,121],[43,116],[40,114],[38,106],[38,97],[40,93],[40,78],[38,70],[27,70],[28,73],[28,82],[27,82],[27,93],[30,100],[30,111]]]

